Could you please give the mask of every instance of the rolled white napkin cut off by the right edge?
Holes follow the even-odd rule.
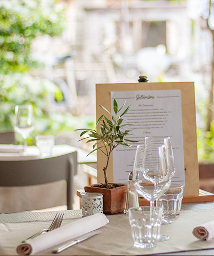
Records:
[[[214,221],[207,222],[193,229],[192,234],[201,240],[210,240],[214,237]]]

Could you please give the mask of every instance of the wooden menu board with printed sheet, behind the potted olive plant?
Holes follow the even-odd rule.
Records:
[[[137,144],[143,143],[145,136],[170,136],[176,162],[173,179],[185,186],[184,195],[199,195],[194,83],[96,84],[97,119],[103,114],[110,118],[100,105],[113,113],[114,98],[119,106],[124,101],[126,106],[131,104],[124,118],[133,124],[132,139],[139,142],[132,143],[131,148],[121,147],[113,152],[107,169],[109,182],[127,182]],[[98,182],[104,182],[103,167],[107,159],[100,150],[97,154]]]

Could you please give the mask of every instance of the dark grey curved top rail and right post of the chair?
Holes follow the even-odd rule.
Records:
[[[0,161],[0,187],[33,187],[33,185],[50,184],[49,182],[64,179],[67,183],[67,207],[68,209],[72,209],[74,191],[73,177],[76,173],[77,152],[44,159]],[[38,200],[42,203],[46,195],[51,197],[56,196],[54,192],[52,192],[52,194],[43,192],[42,196],[39,195],[40,198],[38,198]],[[22,195],[22,201],[24,201],[27,196],[27,194]],[[7,198],[8,203],[9,200],[10,198]],[[2,203],[5,204],[7,202]],[[32,208],[26,209],[25,202],[21,203],[24,207],[22,210],[18,207],[17,211],[37,210]],[[50,206],[45,208],[49,207]],[[10,210],[10,212],[17,211],[15,207],[14,210]]]

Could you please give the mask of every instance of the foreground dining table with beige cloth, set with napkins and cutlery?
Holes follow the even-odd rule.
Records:
[[[87,218],[82,210],[57,211],[64,213],[60,228],[71,222]],[[17,255],[16,247],[37,231],[49,227],[56,211],[20,212],[0,215],[0,254]],[[214,220],[214,202],[182,204],[180,216],[168,225],[161,225],[161,234],[169,240],[158,242],[153,248],[135,248],[131,236],[128,214],[106,214],[109,220],[101,231],[76,244],[59,255],[214,255],[214,238],[199,240],[193,228]],[[60,229],[59,228],[59,229]],[[43,235],[45,237],[45,234]],[[54,255],[54,245],[35,255]]]

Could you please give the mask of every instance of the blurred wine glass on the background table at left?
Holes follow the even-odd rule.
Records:
[[[27,138],[34,129],[32,105],[16,105],[14,130],[24,138],[24,155],[27,155]]]

